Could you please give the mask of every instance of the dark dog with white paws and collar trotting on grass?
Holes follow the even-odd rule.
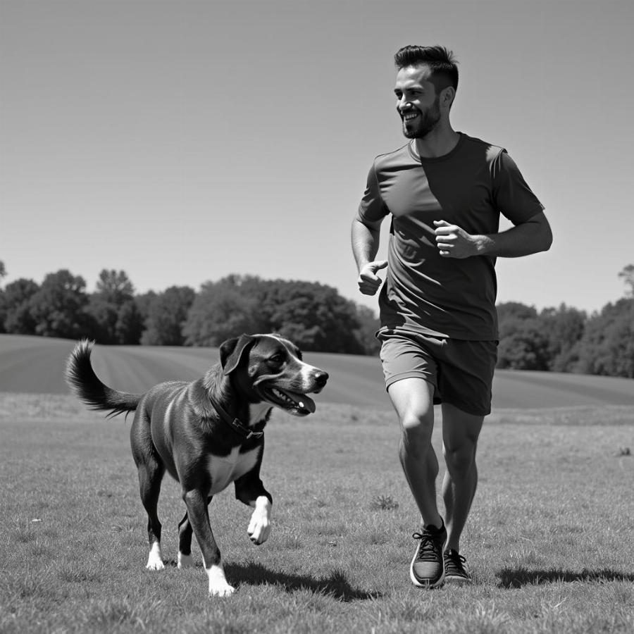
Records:
[[[209,578],[209,594],[228,596],[220,550],[209,523],[211,498],[231,483],[235,497],[254,508],[247,533],[262,544],[271,533],[273,498],[260,479],[264,427],[273,407],[293,416],[316,409],[308,396],[323,390],[328,373],[302,361],[299,348],[279,335],[241,335],[220,345],[220,363],[191,383],[169,381],[144,394],[119,392],[94,373],[92,343],[82,340],[68,357],[66,381],[91,409],[109,416],[135,411],[132,456],[147,511],[147,568],[164,568],[157,505],[167,471],[180,483],[187,506],[178,524],[178,568],[192,566],[192,532]]]

